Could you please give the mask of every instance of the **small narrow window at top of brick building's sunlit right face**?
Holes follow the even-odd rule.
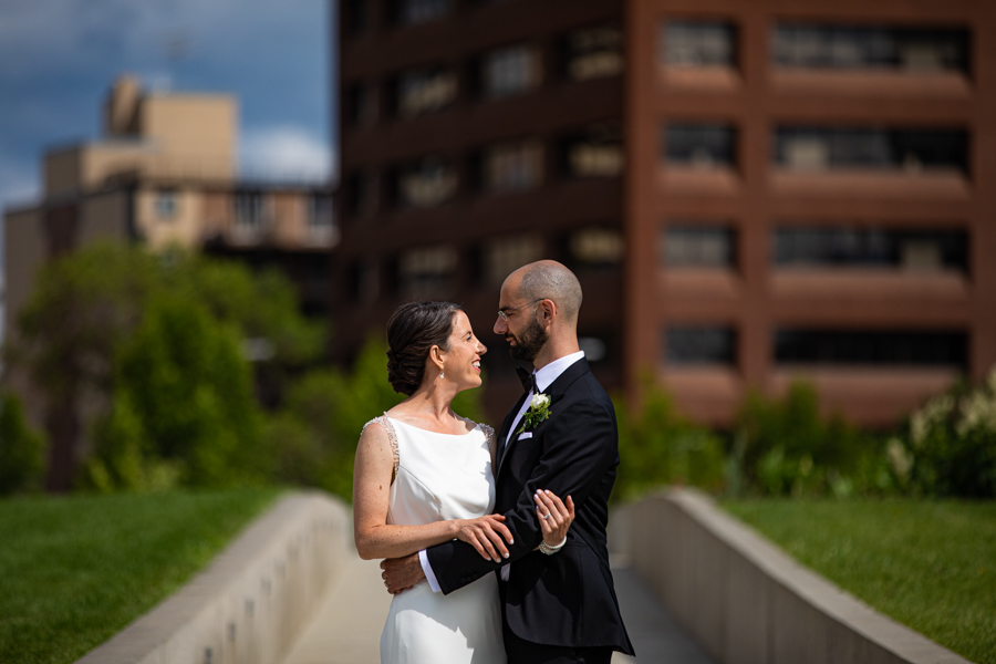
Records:
[[[665,21],[661,60],[668,66],[735,66],[736,28],[726,22]]]

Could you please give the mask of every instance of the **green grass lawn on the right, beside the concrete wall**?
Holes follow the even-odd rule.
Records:
[[[878,611],[973,662],[996,664],[996,502],[723,507]]]

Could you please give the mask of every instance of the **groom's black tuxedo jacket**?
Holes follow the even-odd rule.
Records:
[[[632,655],[605,538],[609,494],[619,466],[615,411],[584,359],[560,374],[544,394],[550,395],[550,416],[531,437],[512,434],[505,447],[523,395],[505,418],[497,440],[496,511],[507,517],[515,538],[508,547],[508,625],[533,643],[610,646]],[[543,539],[532,499],[537,489],[574,500],[567,544],[553,556],[533,550]],[[426,553],[447,594],[501,567],[458,540],[430,547]]]

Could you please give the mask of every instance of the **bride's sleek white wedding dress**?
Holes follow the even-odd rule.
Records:
[[[495,508],[489,449],[494,430],[428,432],[386,415],[377,423],[395,453],[387,522],[421,526],[474,519]],[[394,595],[381,634],[382,664],[506,664],[498,581],[486,574],[448,595],[426,580]]]

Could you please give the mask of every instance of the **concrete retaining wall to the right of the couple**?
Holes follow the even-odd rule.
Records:
[[[706,496],[670,490],[613,517],[610,541],[723,664],[968,664],[800,566]]]

